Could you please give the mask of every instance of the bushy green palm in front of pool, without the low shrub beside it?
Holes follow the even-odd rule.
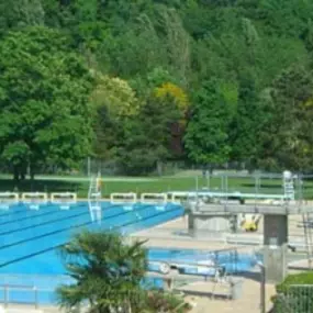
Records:
[[[135,305],[146,269],[142,244],[123,245],[122,238],[114,234],[86,231],[76,235],[60,250],[75,280],[58,288],[60,304],[70,310],[88,300],[91,312],[110,312],[110,308],[123,302]]]

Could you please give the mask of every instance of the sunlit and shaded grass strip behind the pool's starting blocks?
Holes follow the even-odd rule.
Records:
[[[176,191],[212,191],[232,193],[284,194],[281,177],[246,176],[242,174],[199,175],[198,172],[181,174],[169,177],[110,177],[102,174],[102,194],[109,197],[114,192],[161,193]],[[10,177],[0,179],[0,191],[20,192],[77,192],[78,197],[86,198],[89,178],[77,176],[37,176],[33,181],[16,183]],[[295,186],[295,198],[313,199],[313,180],[305,179],[301,189]]]

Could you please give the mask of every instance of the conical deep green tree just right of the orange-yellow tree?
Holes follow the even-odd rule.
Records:
[[[231,147],[227,127],[230,109],[217,90],[216,81],[205,81],[195,93],[185,144],[197,164],[221,165],[228,160]]]

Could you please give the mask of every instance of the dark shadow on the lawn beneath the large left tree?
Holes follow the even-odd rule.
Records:
[[[57,180],[24,180],[16,183],[13,179],[0,179],[0,191],[15,192],[79,192],[81,183]]]

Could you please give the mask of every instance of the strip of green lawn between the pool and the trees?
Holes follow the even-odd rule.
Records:
[[[210,181],[202,176],[171,176],[152,178],[130,177],[104,177],[102,182],[102,194],[108,197],[112,192],[167,192],[167,191],[191,191],[198,188],[212,190],[242,191],[255,193],[255,180],[253,178],[228,177],[227,183],[221,178],[214,177]],[[77,192],[80,198],[88,193],[89,180],[82,177],[37,177],[33,182],[25,180],[15,186],[8,176],[0,177],[0,191],[44,191],[44,192]],[[279,179],[262,179],[258,193],[283,193],[282,181]],[[304,181],[303,193],[306,199],[313,199],[313,181]]]

